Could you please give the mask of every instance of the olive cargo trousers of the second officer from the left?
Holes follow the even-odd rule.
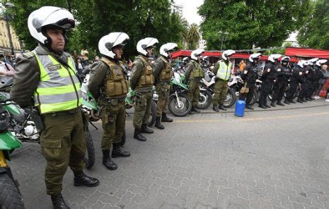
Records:
[[[125,131],[125,100],[117,100],[116,103],[117,105],[108,104],[101,107],[100,116],[103,121],[102,150],[110,150],[112,143],[120,143]]]

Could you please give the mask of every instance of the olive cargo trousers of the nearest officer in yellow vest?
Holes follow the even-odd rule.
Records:
[[[81,111],[59,112],[44,115],[45,130],[40,135],[40,145],[47,164],[45,183],[48,195],[62,191],[62,181],[67,166],[81,172],[86,153],[86,135]]]

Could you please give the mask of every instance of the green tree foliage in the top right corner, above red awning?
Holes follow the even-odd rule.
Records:
[[[297,40],[306,47],[329,49],[329,1],[318,0]]]

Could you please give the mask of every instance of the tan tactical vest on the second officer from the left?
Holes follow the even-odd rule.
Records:
[[[110,76],[105,78],[106,95],[110,98],[125,96],[128,92],[128,85],[123,75],[122,66],[115,64],[114,61],[110,61],[105,57],[102,57],[101,61],[105,62],[110,68]]]

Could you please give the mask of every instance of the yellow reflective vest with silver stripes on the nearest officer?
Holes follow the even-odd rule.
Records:
[[[69,67],[63,66],[51,55],[35,53],[40,68],[40,81],[34,94],[35,106],[41,114],[67,111],[82,104],[79,79],[71,57]]]

